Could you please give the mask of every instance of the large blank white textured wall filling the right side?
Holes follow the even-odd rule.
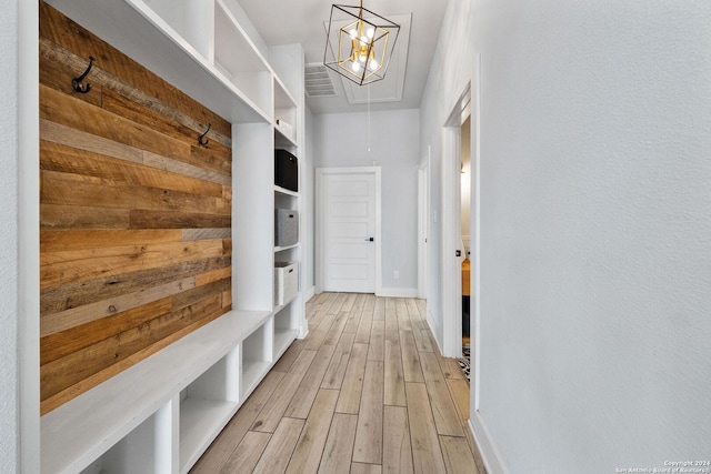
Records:
[[[450,0],[421,131],[481,52],[490,472],[709,460],[710,43],[709,2]]]

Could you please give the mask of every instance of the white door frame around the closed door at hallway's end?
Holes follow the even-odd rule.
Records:
[[[323,291],[323,274],[326,259],[323,259],[323,200],[326,174],[373,174],[375,178],[375,294],[382,292],[382,199],[381,199],[381,168],[380,167],[353,167],[353,168],[317,168],[316,169],[316,292]]]

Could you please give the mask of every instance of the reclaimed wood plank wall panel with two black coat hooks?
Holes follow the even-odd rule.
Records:
[[[44,414],[230,310],[232,152],[228,121],[44,3],[39,88]]]

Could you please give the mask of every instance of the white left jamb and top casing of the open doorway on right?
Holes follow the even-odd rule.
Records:
[[[442,355],[462,356],[461,127],[471,114],[471,84],[442,130]],[[471,294],[471,293],[470,293]]]

